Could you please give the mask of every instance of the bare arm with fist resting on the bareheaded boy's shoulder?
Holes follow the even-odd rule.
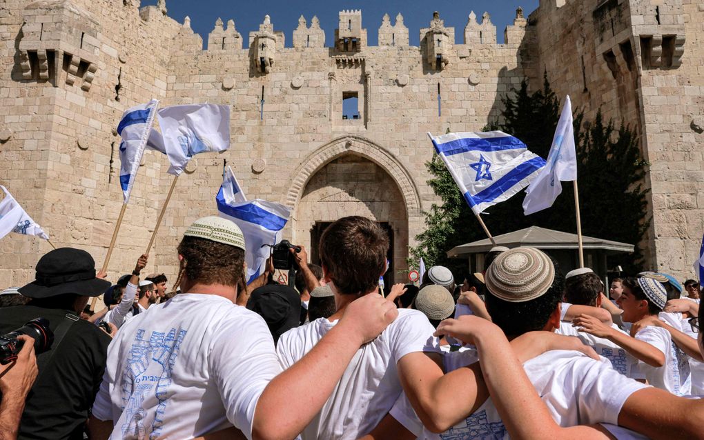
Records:
[[[377,294],[352,301],[340,322],[312,350],[272,379],[254,413],[253,439],[292,439],[313,420],[363,344],[375,339],[398,315]]]

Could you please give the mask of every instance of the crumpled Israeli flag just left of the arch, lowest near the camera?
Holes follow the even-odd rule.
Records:
[[[215,203],[220,217],[232,220],[244,234],[247,248],[244,260],[247,263],[247,284],[259,277],[264,270],[271,249],[265,244],[277,244],[281,241],[281,230],[289,221],[291,210],[279,203],[265,200],[237,202],[232,196],[232,181],[227,173],[223,179]]]

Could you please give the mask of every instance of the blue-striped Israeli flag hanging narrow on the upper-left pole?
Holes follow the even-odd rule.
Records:
[[[125,203],[130,201],[130,192],[137,177],[139,163],[142,162],[144,148],[149,137],[151,125],[154,122],[154,113],[158,105],[156,99],[149,103],[135,106],[122,114],[118,125],[118,134],[122,137],[120,142],[120,187]]]

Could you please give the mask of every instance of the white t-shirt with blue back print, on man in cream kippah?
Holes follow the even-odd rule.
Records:
[[[281,372],[264,320],[221,296],[178,294],[127,320],[108,347],[93,415],[111,439],[189,439],[232,425],[251,438]]]

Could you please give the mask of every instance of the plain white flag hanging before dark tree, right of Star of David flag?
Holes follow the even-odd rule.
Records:
[[[562,182],[577,180],[577,153],[574,151],[572,102],[567,95],[548,154],[548,165],[526,189],[523,213],[529,215],[550,208],[562,192]]]

